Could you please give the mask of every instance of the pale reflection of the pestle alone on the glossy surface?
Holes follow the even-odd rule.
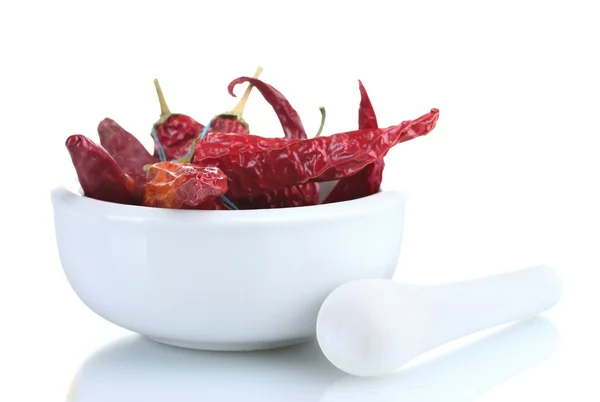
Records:
[[[322,400],[472,401],[549,358],[557,345],[552,323],[534,318],[391,376],[345,377]]]

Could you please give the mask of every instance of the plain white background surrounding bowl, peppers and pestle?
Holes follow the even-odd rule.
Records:
[[[478,373],[502,367],[507,354],[519,359],[522,342],[538,344],[521,339],[446,388],[435,378],[447,376],[425,371],[425,388],[445,396],[417,392],[411,400],[598,400],[600,28],[593,4],[2,2],[0,400],[64,400],[85,359],[127,335],[87,310],[61,272],[49,190],[73,174],[66,137],[96,139],[98,122],[111,117],[150,147],[159,113],[152,79],[161,80],[173,111],[206,122],[234,105],[229,81],[258,64],[309,133],[321,105],[326,134],[356,127],[359,78],[382,126],[440,109],[434,132],[386,160],[385,185],[411,196],[399,280],[461,280],[538,263],[564,280],[562,302],[536,335],[540,342],[560,335],[550,359],[470,393],[485,383]],[[255,133],[280,133],[258,93],[245,117]],[[447,373],[465,364],[459,359]],[[177,372],[169,370],[163,374]],[[215,381],[227,379],[221,389],[246,378],[214,373]],[[129,387],[129,396],[104,400],[151,400],[136,394],[143,373],[132,370],[129,382],[120,376],[120,385],[98,375],[97,395]],[[392,400],[404,389],[399,378],[350,388]],[[240,387],[241,395],[267,400]],[[338,400],[335,389],[319,392],[298,400]],[[212,400],[222,397],[216,391]]]

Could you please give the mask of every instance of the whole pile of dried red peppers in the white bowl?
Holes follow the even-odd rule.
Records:
[[[268,209],[316,205],[319,182],[337,180],[323,203],[365,197],[379,191],[384,157],[396,144],[431,132],[439,111],[379,128],[367,91],[359,81],[358,129],[308,138],[300,116],[271,85],[240,77],[228,87],[248,83],[237,106],[208,124],[171,113],[158,81],[161,115],[153,125],[151,154],[115,121],[98,125],[100,145],[72,135],[67,149],[88,197],[130,205],[176,209]],[[242,118],[252,88],[277,114],[283,137],[250,134]]]

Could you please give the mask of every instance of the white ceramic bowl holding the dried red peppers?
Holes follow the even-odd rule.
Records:
[[[359,278],[391,278],[406,197],[310,207],[190,211],[52,191],[66,277],[106,320],[175,346],[268,349],[315,336],[321,303]]]

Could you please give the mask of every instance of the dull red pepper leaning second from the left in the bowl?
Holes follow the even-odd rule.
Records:
[[[131,133],[112,119],[98,124],[100,145],[112,156],[123,172],[135,181],[136,195],[141,198],[142,186],[146,183],[144,166],[158,162],[158,158]]]

